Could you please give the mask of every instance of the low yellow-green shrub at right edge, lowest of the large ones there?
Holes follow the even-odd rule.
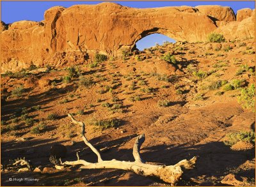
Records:
[[[228,140],[224,142],[227,146],[233,146],[239,141],[250,142],[255,145],[255,132],[254,131],[240,131],[238,133],[228,133],[226,135]]]

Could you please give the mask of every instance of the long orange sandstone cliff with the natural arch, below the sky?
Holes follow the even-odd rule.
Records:
[[[244,16],[243,16],[244,17]],[[234,38],[254,36],[253,18],[236,22],[234,12],[222,6],[129,8],[115,3],[55,6],[42,22],[1,22],[1,71],[17,71],[52,64],[83,63],[88,54],[117,55],[136,41],[161,33],[177,41],[206,41],[213,31]],[[221,24],[217,24],[221,22]],[[249,25],[249,26],[248,26]],[[218,28],[220,26],[220,28]],[[245,35],[244,35],[245,34]]]

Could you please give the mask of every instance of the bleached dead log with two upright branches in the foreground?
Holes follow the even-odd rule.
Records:
[[[181,160],[179,163],[175,165],[152,165],[145,163],[145,161],[142,160],[140,155],[140,147],[145,141],[145,135],[142,134],[136,138],[134,147],[133,147],[133,156],[135,161],[120,161],[120,160],[102,160],[100,153],[95,147],[88,142],[87,138],[85,137],[84,133],[84,123],[81,121],[76,121],[74,117],[71,114],[68,114],[68,116],[72,119],[72,123],[79,124],[81,127],[81,137],[83,138],[84,143],[86,146],[90,147],[92,149],[93,153],[95,153],[98,157],[97,163],[90,163],[85,160],[81,160],[79,158],[79,155],[77,154],[77,160],[76,161],[65,161],[62,162],[62,165],[82,165],[80,168],[83,169],[90,169],[90,168],[116,168],[116,169],[122,169],[122,170],[129,170],[136,174],[139,174],[141,176],[146,177],[156,177],[158,179],[163,180],[166,183],[175,184],[182,176],[182,173],[186,169],[191,169],[194,167],[196,162],[196,156],[191,158],[191,160]]]

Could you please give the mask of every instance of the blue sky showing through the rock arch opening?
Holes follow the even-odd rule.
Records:
[[[144,50],[150,47],[154,47],[157,44],[163,45],[165,42],[175,43],[176,41],[164,34],[152,33],[136,41],[133,49]]]

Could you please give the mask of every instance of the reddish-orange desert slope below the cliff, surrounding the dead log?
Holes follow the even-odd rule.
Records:
[[[67,67],[49,72],[33,70],[35,74],[17,78],[2,77],[1,120],[5,124],[1,125],[1,162],[26,157],[35,167],[44,167],[44,172],[4,170],[1,185],[169,185],[124,170],[56,170],[49,161],[51,146],[56,143],[67,147],[63,161],[76,160],[77,151],[81,151],[81,159],[97,161],[81,140],[79,128],[71,123],[69,112],[76,114],[78,121],[84,121],[86,137],[101,150],[104,160],[133,161],[134,138],[145,133],[141,155],[150,163],[172,165],[199,156],[196,168],[186,172],[178,186],[223,186],[226,184],[221,180],[228,174],[234,174],[243,185],[254,186],[254,147],[232,150],[223,141],[227,133],[254,130],[255,113],[237,102],[239,89],[224,91],[225,86],[214,87],[218,80],[243,80],[241,87],[254,82],[253,45],[252,39],[168,43],[129,57],[108,59],[96,68],[84,62],[79,65],[80,78],[68,83],[61,81],[68,75]],[[168,52],[177,59],[176,66],[161,59]],[[241,65],[248,65],[251,71],[237,73]],[[205,72],[205,78],[193,75],[199,70]],[[91,77],[94,84],[82,86],[81,77]],[[13,89],[20,85],[24,86],[24,93],[13,95]],[[160,107],[161,101],[167,101],[168,106]],[[34,106],[38,105],[37,110]],[[20,108],[23,116],[13,116]],[[26,114],[35,120],[34,124],[24,122]],[[49,114],[57,114],[56,119],[48,119]],[[92,124],[113,118],[120,120],[115,128],[100,130]],[[43,130],[33,134],[32,129],[38,124],[44,124]],[[11,182],[10,177],[33,177],[39,181]]]

